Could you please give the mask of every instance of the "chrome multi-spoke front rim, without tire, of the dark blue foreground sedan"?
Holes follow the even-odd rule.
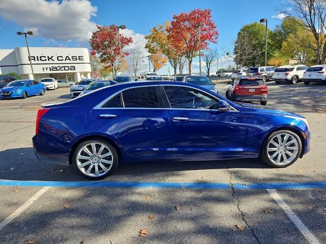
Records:
[[[268,142],[267,156],[276,165],[290,164],[297,156],[299,143],[289,133],[280,133]]]

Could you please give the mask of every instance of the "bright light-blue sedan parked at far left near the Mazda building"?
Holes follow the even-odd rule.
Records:
[[[15,80],[0,90],[0,96],[6,98],[22,98],[45,94],[45,85],[36,80]]]

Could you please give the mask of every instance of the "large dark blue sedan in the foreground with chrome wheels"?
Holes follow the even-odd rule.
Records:
[[[143,81],[45,105],[33,145],[41,162],[101,179],[122,162],[259,158],[282,168],[308,153],[309,140],[301,115],[234,103],[188,82]]]

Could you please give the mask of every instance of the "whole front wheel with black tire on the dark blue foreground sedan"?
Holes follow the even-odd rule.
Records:
[[[283,142],[285,140],[285,135],[288,135],[286,143],[290,143],[294,139],[295,139],[294,140],[295,142],[288,144],[284,148]],[[276,144],[280,144],[279,139],[278,139],[279,136],[281,137],[281,146],[279,147],[280,149],[276,149],[276,148],[278,148],[276,146]],[[274,142],[276,144],[270,143],[271,140],[274,140]],[[285,145],[286,145],[286,143],[285,143]],[[273,149],[273,150],[267,152],[267,147],[270,149]],[[297,148],[297,149],[287,149],[290,147]],[[274,150],[274,148],[275,148],[275,150]],[[300,137],[297,134],[295,134],[292,131],[288,131],[288,130],[279,130],[279,131],[275,131],[275,132],[271,133],[265,139],[265,141],[263,142],[262,147],[260,149],[259,159],[260,159],[260,161],[262,161],[265,164],[268,164],[271,167],[285,168],[285,167],[293,164],[298,159],[298,157],[300,157],[301,151],[302,151],[302,142],[301,142]],[[287,152],[292,154],[292,156],[290,156]],[[274,158],[273,158],[273,156],[274,156]],[[286,158],[287,157],[289,157],[289,158],[287,158],[287,160],[285,161],[284,156]],[[295,156],[295,157],[293,157],[293,156]],[[282,160],[283,160],[283,162],[282,162]]]

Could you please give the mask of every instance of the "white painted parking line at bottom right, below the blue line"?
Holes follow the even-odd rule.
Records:
[[[292,220],[296,228],[306,237],[311,244],[320,244],[319,240],[311,233],[308,227],[297,217],[292,209],[287,205],[281,196],[277,193],[276,189],[266,189],[267,192],[274,198],[279,206],[284,210],[285,214]]]

